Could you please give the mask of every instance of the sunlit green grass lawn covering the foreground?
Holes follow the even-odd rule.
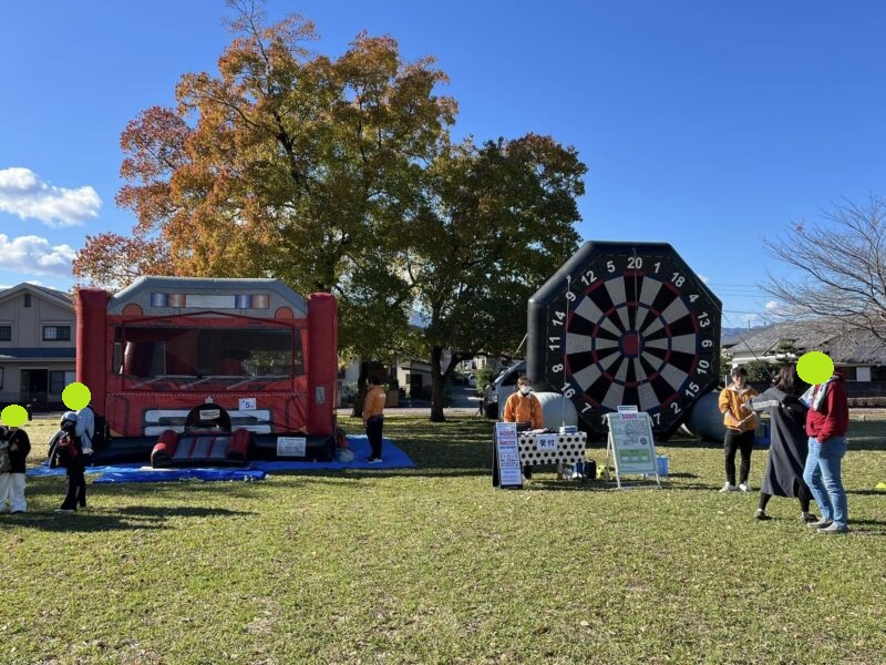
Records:
[[[722,449],[681,439],[663,490],[495,490],[491,427],[388,418],[408,471],[87,477],[74,515],[29,478],[0,516],[0,663],[886,662],[886,421],[852,423],[846,536],[795,500],[756,522],[755,493],[717,492]],[[54,428],[28,429],[37,463]]]

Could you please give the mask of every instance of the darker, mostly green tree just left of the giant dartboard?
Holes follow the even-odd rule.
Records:
[[[517,347],[529,296],[578,246],[586,166],[549,136],[443,150],[425,200],[405,221],[404,270],[425,318],[431,419],[456,362]],[[449,351],[449,354],[446,354]]]

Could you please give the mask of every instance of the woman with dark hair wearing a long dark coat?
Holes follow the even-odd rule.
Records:
[[[769,409],[770,412],[771,443],[763,485],[760,488],[758,520],[771,519],[766,514],[766,504],[773,495],[797,498],[801,519],[804,522],[816,520],[810,513],[812,492],[803,480],[808,437],[805,429],[807,408],[800,401],[802,392],[796,365],[784,365],[779,370],[775,383],[751,400],[750,406],[755,411]]]

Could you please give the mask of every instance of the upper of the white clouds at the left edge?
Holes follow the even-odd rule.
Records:
[[[0,168],[0,211],[48,226],[78,226],[99,216],[102,200],[90,186],[68,190],[42,182],[30,168]]]

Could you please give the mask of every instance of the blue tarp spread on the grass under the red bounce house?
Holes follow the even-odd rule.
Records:
[[[320,469],[414,469],[415,463],[409,456],[394,446],[390,439],[384,439],[382,458],[378,464],[368,464],[369,441],[367,437],[351,434],[348,443],[354,453],[352,462],[296,462],[254,461],[248,467],[202,467],[182,469],[152,469],[142,463],[112,464],[105,467],[86,467],[87,474],[100,475],[93,482],[96,484],[116,482],[172,482],[176,480],[262,480],[270,471],[316,471]],[[28,469],[28,475],[64,475],[64,469],[50,469],[45,462],[41,467]]]

